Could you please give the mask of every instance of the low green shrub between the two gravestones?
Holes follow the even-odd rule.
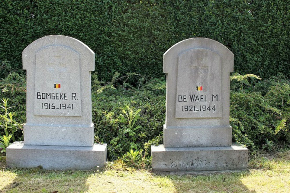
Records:
[[[92,77],[96,83],[97,76]],[[144,143],[162,134],[165,81],[151,79],[145,84],[143,81],[139,79],[139,89],[114,80],[93,86],[95,133],[101,142],[108,143],[110,160],[121,158],[130,149],[142,150]]]

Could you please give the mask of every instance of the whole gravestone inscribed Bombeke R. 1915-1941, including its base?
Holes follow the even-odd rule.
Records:
[[[95,53],[81,41],[51,35],[22,53],[27,73],[24,141],[6,149],[8,166],[44,169],[103,167],[107,144],[94,144],[91,71]]]

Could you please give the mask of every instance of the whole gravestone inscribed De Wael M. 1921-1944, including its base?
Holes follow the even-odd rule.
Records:
[[[234,55],[221,43],[191,38],[163,56],[166,120],[163,144],[151,146],[152,169],[246,169],[248,149],[232,144],[230,73]]]

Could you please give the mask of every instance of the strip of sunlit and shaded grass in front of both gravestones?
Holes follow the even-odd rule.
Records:
[[[109,162],[102,170],[48,171],[1,166],[0,192],[289,192],[290,150],[262,154],[249,170],[208,175],[158,174]]]

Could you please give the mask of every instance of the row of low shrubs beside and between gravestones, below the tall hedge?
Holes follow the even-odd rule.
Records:
[[[231,76],[230,124],[233,141],[257,150],[290,148],[290,82],[282,74],[266,80],[255,75]],[[131,80],[138,79],[133,86]],[[26,86],[23,76],[10,74],[0,81],[0,98],[9,98],[8,112],[25,123]],[[110,82],[92,76],[93,122],[96,140],[108,143],[108,159],[123,157],[133,164],[150,166],[150,145],[162,143],[166,82],[135,73],[115,73]],[[0,110],[3,114],[3,109]],[[3,121],[0,124],[3,124]],[[3,135],[3,130],[1,130]],[[21,127],[14,133],[22,139]],[[15,139],[15,140],[16,140]],[[133,152],[127,154],[130,149]],[[139,151],[137,153],[137,151]],[[135,155],[134,155],[135,153]]]

